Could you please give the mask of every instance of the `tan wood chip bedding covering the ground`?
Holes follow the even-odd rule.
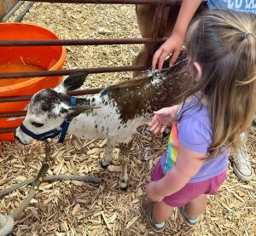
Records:
[[[36,3],[24,22],[44,26],[61,38],[140,37],[130,5],[85,5]],[[65,68],[131,65],[140,45],[79,46],[67,48]],[[90,75],[84,88],[103,87],[121,79],[131,78],[131,72]],[[255,172],[256,133],[248,135],[247,152]],[[44,183],[16,222],[14,232],[20,235],[152,235],[140,211],[143,188],[150,178],[150,170],[165,150],[166,139],[140,129],[131,150],[129,188],[119,190],[117,154],[113,153],[110,171],[102,170],[99,162],[106,141],[80,141],[68,136],[65,145],[54,141],[54,165],[49,175],[76,174],[102,177],[96,187],[78,181]],[[83,153],[74,151],[84,147]],[[30,146],[2,142],[0,152],[0,190],[36,176],[44,158],[44,146],[34,142]],[[256,235],[255,229],[256,178],[249,183],[238,181],[229,169],[227,181],[218,195],[210,197],[207,210],[195,228],[184,226],[175,210],[167,222],[163,235]],[[28,191],[10,193],[0,199],[0,212],[11,212]]]

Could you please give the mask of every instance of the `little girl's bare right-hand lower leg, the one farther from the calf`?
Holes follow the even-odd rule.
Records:
[[[185,214],[189,219],[195,219],[207,208],[207,195],[202,194],[185,205]]]

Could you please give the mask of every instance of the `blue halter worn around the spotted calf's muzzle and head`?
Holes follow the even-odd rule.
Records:
[[[76,106],[77,101],[76,97],[70,97],[70,106]],[[42,134],[35,134],[30,130],[26,129],[26,126],[21,123],[20,124],[20,130],[22,130],[26,135],[31,136],[33,139],[38,140],[38,141],[46,141],[49,138],[55,138],[57,135],[60,135],[59,142],[63,143],[64,139],[67,135],[67,130],[69,127],[69,124],[71,123],[72,118],[67,118],[62,124],[61,124],[61,129],[60,130],[49,130],[47,132],[44,132]]]

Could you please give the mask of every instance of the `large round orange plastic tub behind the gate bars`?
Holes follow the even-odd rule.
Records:
[[[0,39],[58,39],[55,33],[23,23],[1,23]],[[66,59],[63,46],[0,47],[0,73],[60,70]],[[33,95],[54,88],[62,77],[0,79],[0,97]],[[29,101],[0,103],[0,112],[25,110]],[[0,118],[0,128],[17,127],[23,118]],[[13,141],[14,134],[0,134],[0,141]]]

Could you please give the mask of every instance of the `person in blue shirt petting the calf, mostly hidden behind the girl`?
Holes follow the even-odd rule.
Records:
[[[170,60],[170,66],[175,63],[177,55],[179,55],[180,49],[183,46],[183,40],[189,22],[198,9],[202,0],[183,0],[181,8],[179,10],[177,21],[172,31],[172,35],[163,43],[160,48],[155,52],[152,60],[152,68],[154,69],[158,63],[158,69],[161,70],[166,56],[172,54]],[[233,9],[240,12],[248,12],[256,14],[255,1],[247,0],[207,0],[207,6],[209,9]],[[255,118],[256,122],[256,118]],[[256,129],[254,127],[254,129]],[[244,145],[237,150],[236,157],[233,159],[233,169],[241,181],[250,181],[253,176],[253,169],[250,164],[250,160],[247,157],[247,149],[245,146],[246,135],[241,134],[244,138]]]

